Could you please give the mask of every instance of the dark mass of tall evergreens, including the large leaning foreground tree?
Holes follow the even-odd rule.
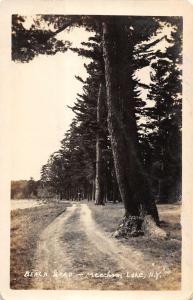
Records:
[[[162,235],[155,226],[155,197],[165,202],[180,197],[181,18],[41,18],[48,28],[54,24],[55,32],[42,31],[36,22],[26,30],[24,18],[13,17],[14,60],[28,62],[35,55],[67,49],[91,59],[85,65],[87,79],[77,77],[83,92],[71,107],[75,118],[61,148],[42,168],[43,187],[65,199],[123,201],[124,226],[118,234]],[[71,48],[55,37],[68,26],[84,26],[95,35],[82,48]],[[172,26],[172,35],[159,38],[157,32],[165,26]],[[159,49],[162,40],[168,42],[166,51]],[[136,76],[147,66],[150,86]],[[145,101],[140,96],[143,89]]]

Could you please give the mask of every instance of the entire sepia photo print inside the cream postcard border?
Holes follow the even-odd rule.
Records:
[[[182,16],[12,14],[11,289],[181,289],[182,56]]]

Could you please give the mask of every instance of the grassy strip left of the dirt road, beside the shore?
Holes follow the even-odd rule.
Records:
[[[29,279],[24,277],[33,268],[33,256],[40,232],[70,204],[48,202],[39,207],[11,212],[10,287],[25,289]]]

